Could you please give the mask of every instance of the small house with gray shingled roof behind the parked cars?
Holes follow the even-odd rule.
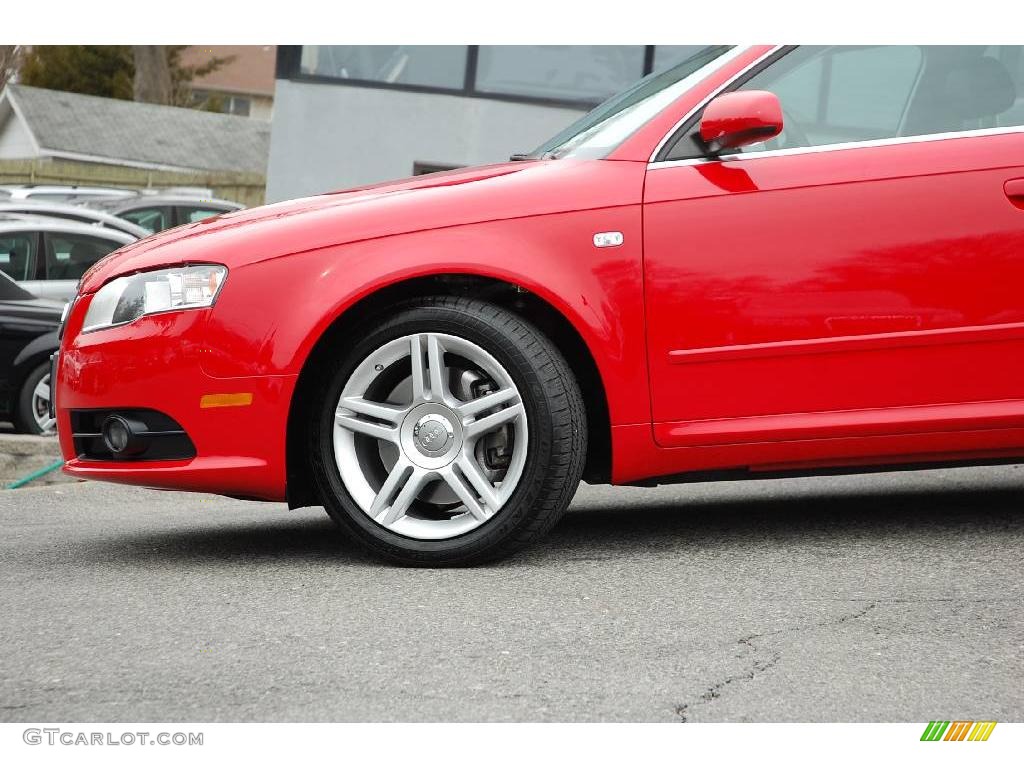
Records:
[[[267,123],[233,115],[26,85],[0,94],[0,160],[265,175],[269,144]]]

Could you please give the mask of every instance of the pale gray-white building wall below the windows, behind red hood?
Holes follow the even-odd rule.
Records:
[[[279,80],[268,203],[529,152],[583,113],[495,99]]]

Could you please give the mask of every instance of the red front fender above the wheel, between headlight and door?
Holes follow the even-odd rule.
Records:
[[[397,283],[472,274],[515,284],[559,311],[590,349],[613,425],[649,423],[639,205],[489,221],[317,249],[233,269],[210,315],[204,371],[298,374],[360,299]],[[623,244],[596,248],[594,233]]]

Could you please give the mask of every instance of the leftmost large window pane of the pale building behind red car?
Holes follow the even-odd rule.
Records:
[[[304,45],[300,73],[340,80],[462,89],[465,45]]]

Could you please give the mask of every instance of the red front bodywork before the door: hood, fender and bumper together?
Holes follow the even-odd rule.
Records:
[[[231,214],[100,262],[83,279],[61,343],[56,402],[66,472],[284,499],[288,415],[316,342],[361,299],[441,274],[506,281],[547,301],[590,349],[612,424],[642,424],[649,433],[646,164],[561,162],[450,176],[425,188],[398,184],[371,198],[270,206],[244,212],[253,217],[248,222]],[[606,231],[621,232],[622,244],[596,247],[594,234]],[[81,333],[94,291],[108,280],[189,261],[228,268],[211,308]],[[217,393],[252,397],[245,408],[204,409],[204,396]],[[130,408],[174,419],[193,438],[196,458],[132,463],[76,456],[73,410]]]

